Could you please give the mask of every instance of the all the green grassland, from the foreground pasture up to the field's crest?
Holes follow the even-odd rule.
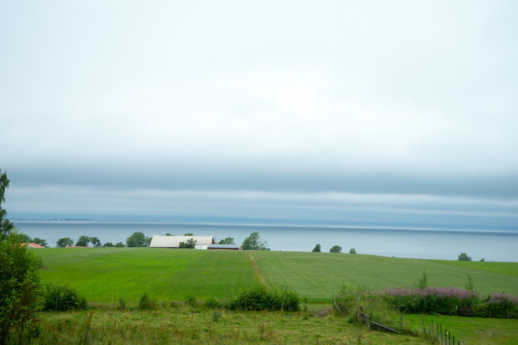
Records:
[[[91,310],[44,312],[34,343],[430,344],[421,315],[405,314],[402,334],[370,331],[330,311],[342,284],[367,289],[411,286],[426,271],[430,285],[464,287],[467,275],[481,294],[518,294],[518,263],[413,260],[361,254],[157,248],[47,248],[44,282],[77,287]],[[209,309],[207,297],[230,299],[241,287],[287,286],[308,297],[298,312]],[[142,293],[158,300],[137,310]],[[185,305],[187,294],[198,299]],[[128,304],[117,310],[122,297]],[[397,315],[396,315],[397,316]],[[398,319],[399,320],[399,319]],[[466,344],[514,344],[518,320],[424,315]],[[427,329],[429,329],[427,327]],[[420,335],[420,336],[418,336]],[[27,340],[31,341],[31,340]]]

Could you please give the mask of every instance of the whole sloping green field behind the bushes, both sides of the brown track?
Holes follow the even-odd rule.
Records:
[[[287,285],[310,301],[329,301],[342,284],[369,289],[409,286],[426,271],[430,285],[464,287],[467,274],[485,294],[518,295],[518,263],[415,260],[361,254],[161,248],[47,248],[44,281],[67,282],[91,301],[161,300],[233,296],[260,281]]]

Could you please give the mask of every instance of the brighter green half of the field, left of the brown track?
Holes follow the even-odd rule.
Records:
[[[43,257],[44,281],[68,282],[92,301],[152,298],[182,300],[227,297],[255,280],[246,252],[161,248],[49,248]]]

